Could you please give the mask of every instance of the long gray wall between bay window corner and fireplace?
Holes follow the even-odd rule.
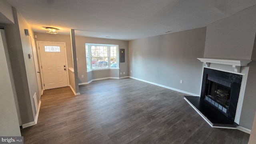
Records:
[[[129,41],[130,76],[199,95],[202,62],[196,58],[204,55],[205,34],[204,27]]]

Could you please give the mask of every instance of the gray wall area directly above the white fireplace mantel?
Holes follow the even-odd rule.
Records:
[[[205,58],[250,60],[256,32],[256,6],[207,26]]]

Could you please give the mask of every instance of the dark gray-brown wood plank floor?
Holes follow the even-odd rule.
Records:
[[[25,144],[247,144],[249,134],[211,128],[183,93],[134,80],[108,79],[46,90]]]

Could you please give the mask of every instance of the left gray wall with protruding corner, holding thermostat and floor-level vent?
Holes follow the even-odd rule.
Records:
[[[33,31],[16,8],[13,12],[15,24],[6,24],[6,40],[22,124],[26,124],[34,121],[33,96],[35,92],[39,94],[34,61],[28,60],[28,54],[32,54],[30,37],[26,37],[24,29],[28,29],[31,36]]]

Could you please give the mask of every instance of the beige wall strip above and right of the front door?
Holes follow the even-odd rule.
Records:
[[[68,67],[73,68],[73,58],[72,58],[70,35],[48,34],[46,32],[45,33],[34,32],[34,35],[36,35],[36,37],[37,37],[37,38],[35,38],[35,41],[65,42]]]

